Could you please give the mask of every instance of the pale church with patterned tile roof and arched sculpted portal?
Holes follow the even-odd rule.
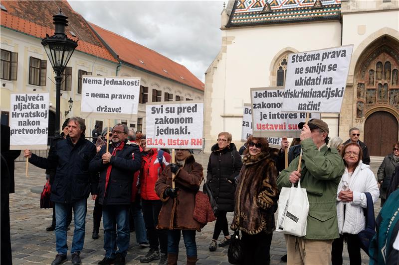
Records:
[[[358,127],[371,156],[399,136],[397,0],[238,0],[221,13],[221,48],[205,73],[205,152],[228,131],[240,145],[250,88],[284,86],[288,54],[353,44],[341,112],[321,113],[330,136]]]

